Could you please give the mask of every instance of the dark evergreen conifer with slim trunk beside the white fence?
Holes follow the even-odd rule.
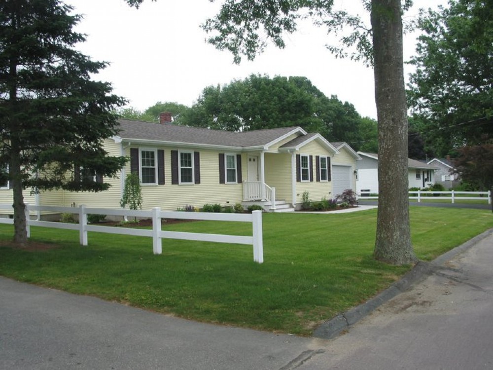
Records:
[[[125,163],[102,140],[118,131],[125,100],[93,81],[106,67],[74,50],[80,16],[59,0],[0,2],[0,167],[14,197],[14,240],[26,241],[22,190],[105,190],[94,181]],[[76,176],[83,169],[85,176]]]

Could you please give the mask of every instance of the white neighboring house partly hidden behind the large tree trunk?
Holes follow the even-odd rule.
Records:
[[[357,192],[378,193],[378,154],[358,151]],[[435,183],[436,167],[415,159],[408,159],[409,187],[428,187]]]

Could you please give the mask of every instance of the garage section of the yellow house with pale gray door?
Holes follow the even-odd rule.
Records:
[[[332,198],[346,189],[356,191],[356,161],[361,157],[347,143],[330,143],[339,151],[332,162]]]

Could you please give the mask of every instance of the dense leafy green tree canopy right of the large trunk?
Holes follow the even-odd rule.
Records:
[[[423,12],[409,101],[428,146],[446,155],[493,134],[493,1],[450,0]]]

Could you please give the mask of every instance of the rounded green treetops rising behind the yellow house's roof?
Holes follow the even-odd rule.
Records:
[[[361,117],[352,104],[326,97],[306,77],[250,75],[206,87],[178,122],[230,131],[301,126],[327,140],[357,143]]]

